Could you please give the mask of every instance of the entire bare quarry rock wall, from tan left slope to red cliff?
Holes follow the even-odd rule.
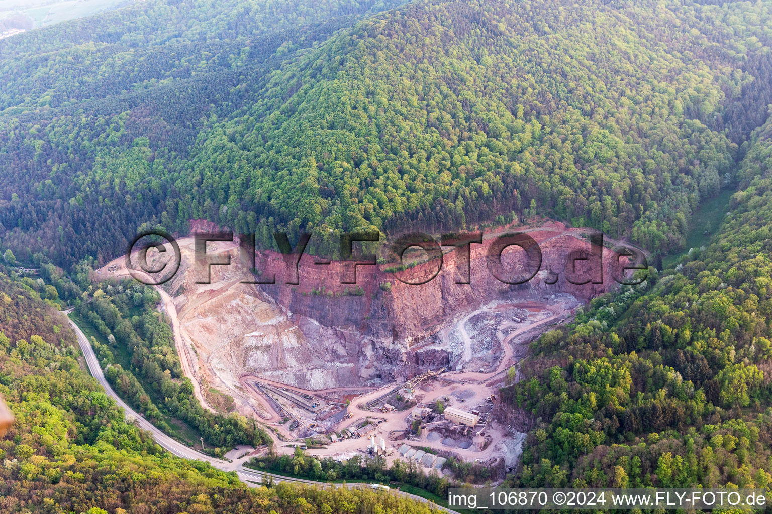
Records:
[[[212,229],[205,223],[194,227]],[[257,252],[256,263],[259,277],[276,274],[276,284],[243,284],[251,275],[237,264],[236,245],[228,243],[210,244],[208,253],[229,252],[233,264],[212,266],[212,283],[196,284],[193,243],[186,239],[181,241],[181,272],[165,288],[174,297],[181,334],[195,348],[200,378],[237,400],[243,395],[242,405],[249,396],[239,392],[238,380],[244,375],[323,389],[378,384],[467,363],[486,368],[496,365],[503,334],[496,332],[502,318],[496,321],[483,306],[534,298],[549,304],[559,293],[587,301],[617,285],[612,277],[617,255],[608,248],[602,250],[601,283],[568,280],[566,263],[572,253],[589,253],[585,230],[560,223],[520,230],[537,241],[542,253],[540,272],[524,284],[506,284],[493,276],[486,255],[496,234],[487,234],[482,244],[471,247],[471,284],[456,284],[465,263],[449,248],[442,270],[422,285],[398,281],[383,264],[357,267],[357,284],[341,284],[347,264],[314,264],[308,255],[300,260],[299,284],[286,284],[284,257],[269,251]],[[504,267],[523,265],[524,256],[523,250],[510,247],[503,252]],[[577,261],[584,274],[575,275],[574,282],[589,275],[586,263]],[[437,265],[438,259],[429,260],[405,273],[413,280],[431,277]],[[507,311],[507,319],[517,312]]]

